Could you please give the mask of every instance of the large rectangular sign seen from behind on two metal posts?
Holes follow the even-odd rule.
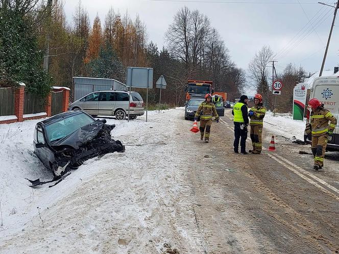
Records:
[[[153,68],[127,67],[126,86],[146,88],[146,121],[148,113],[148,89],[153,88]],[[130,120],[130,104],[128,104],[128,121]]]

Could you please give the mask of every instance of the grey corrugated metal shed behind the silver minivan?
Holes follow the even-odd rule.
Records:
[[[74,77],[74,100],[100,90],[127,90],[126,85],[113,79]]]

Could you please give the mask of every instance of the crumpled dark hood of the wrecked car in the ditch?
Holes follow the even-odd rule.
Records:
[[[79,146],[87,142],[90,142],[96,136],[98,136],[99,132],[103,129],[104,125],[108,126],[110,130],[113,130],[113,128],[115,127],[115,124],[108,125],[104,124],[102,121],[95,121],[81,127],[80,129],[68,135],[67,137],[52,142],[51,145],[52,146],[68,145],[73,147],[74,149],[78,149]]]

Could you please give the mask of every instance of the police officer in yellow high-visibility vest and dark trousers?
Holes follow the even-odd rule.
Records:
[[[248,97],[241,95],[240,100],[233,106],[232,115],[234,115],[234,153],[239,153],[239,140],[240,140],[240,153],[247,155],[246,151],[246,139],[247,139],[247,126],[249,124]]]

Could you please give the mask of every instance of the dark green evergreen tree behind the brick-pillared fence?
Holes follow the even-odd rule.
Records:
[[[52,77],[41,68],[43,53],[31,31],[31,20],[5,8],[0,9],[0,17],[1,83],[14,85],[20,81],[28,90],[46,95],[51,90]]]

